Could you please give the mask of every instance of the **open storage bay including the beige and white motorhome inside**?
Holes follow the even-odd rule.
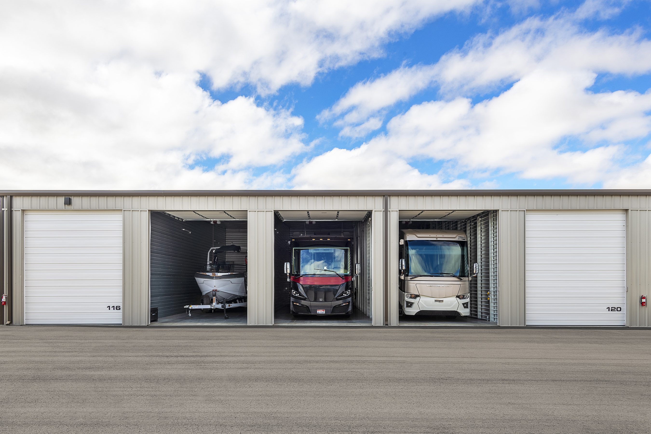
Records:
[[[497,211],[408,210],[398,218],[399,325],[496,325]]]

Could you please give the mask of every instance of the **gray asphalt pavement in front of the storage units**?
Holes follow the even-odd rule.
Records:
[[[649,433],[651,331],[0,328],[2,433]]]

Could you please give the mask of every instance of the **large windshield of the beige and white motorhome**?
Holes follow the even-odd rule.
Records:
[[[465,241],[419,239],[408,241],[407,247],[410,276],[468,276]]]

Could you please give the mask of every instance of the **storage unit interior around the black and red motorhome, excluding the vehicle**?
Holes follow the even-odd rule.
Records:
[[[277,325],[370,325],[371,320],[371,217],[369,211],[275,211],[274,217],[274,324]],[[301,306],[304,312],[294,316],[290,311],[292,282],[288,280],[284,264],[294,264],[292,245],[303,240],[324,243],[339,239],[350,245],[350,287],[352,310],[350,316],[327,314],[319,316],[315,306]],[[315,245],[316,245],[315,244]],[[323,250],[323,249],[322,249]],[[325,262],[324,262],[325,264]],[[355,264],[359,274],[355,275]],[[324,265],[324,267],[326,267]],[[295,273],[298,275],[298,273]],[[332,279],[337,280],[336,273]],[[344,280],[347,276],[344,275]],[[296,276],[294,276],[296,278]],[[298,278],[300,280],[301,278]],[[343,281],[343,280],[342,280]],[[306,286],[310,287],[310,286]],[[312,295],[307,293],[311,305]],[[312,301],[316,301],[314,299]],[[342,301],[348,303],[347,301]],[[333,301],[337,304],[336,301]],[[325,311],[326,309],[324,309]],[[315,315],[316,314],[316,315]]]

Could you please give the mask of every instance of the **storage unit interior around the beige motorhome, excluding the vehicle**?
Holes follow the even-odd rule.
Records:
[[[400,325],[496,325],[497,211],[409,210],[399,211],[400,230],[461,231],[466,236],[469,273],[477,264],[477,276],[469,282],[469,316],[400,315]],[[452,279],[453,280],[453,279]],[[439,296],[443,298],[443,295]],[[402,306],[401,306],[402,307]]]

